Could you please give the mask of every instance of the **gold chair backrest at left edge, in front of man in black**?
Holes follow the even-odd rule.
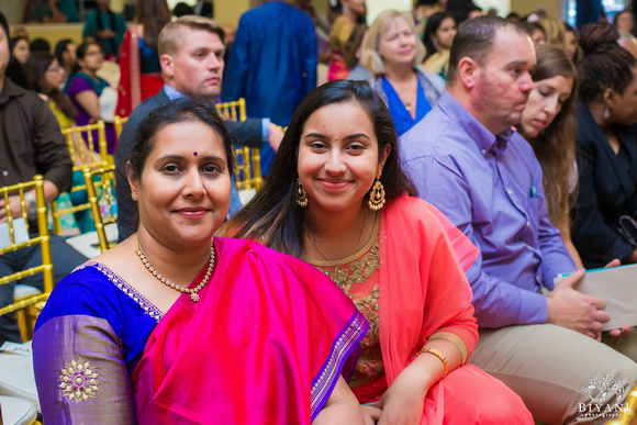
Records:
[[[35,191],[35,203],[37,211],[37,227],[40,235],[27,241],[22,241],[21,234],[29,235],[29,211],[26,206],[26,200],[24,198],[25,192]],[[9,244],[0,248],[0,256],[14,251],[16,249],[25,248],[40,244],[42,250],[42,265],[32,267],[26,270],[18,271],[15,273],[0,277],[0,284],[7,284],[9,282],[20,280],[25,276],[35,275],[38,272],[43,273],[44,280],[44,293],[26,298],[20,302],[9,304],[0,309],[0,315],[7,314],[20,309],[24,309],[29,305],[36,304],[48,298],[51,291],[53,291],[53,260],[51,256],[51,236],[48,234],[48,223],[47,223],[47,210],[46,200],[44,198],[44,179],[42,176],[35,176],[33,181],[25,183],[19,183],[13,186],[5,186],[0,188],[0,199],[3,199],[7,205],[9,204],[9,197],[20,197],[20,209],[21,211],[11,211],[8,208],[7,226],[2,226],[0,232],[8,235]],[[4,228],[5,227],[5,228]],[[4,244],[3,244],[4,245]]]

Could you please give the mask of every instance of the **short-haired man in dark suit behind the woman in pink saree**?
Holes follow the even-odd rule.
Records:
[[[181,16],[164,26],[159,33],[164,88],[133,111],[120,135],[114,155],[120,241],[128,237],[137,228],[137,211],[127,195],[131,189],[126,179],[126,163],[130,159],[137,126],[150,111],[176,99],[191,98],[206,105],[214,103],[221,93],[221,76],[224,68],[222,40],[223,30],[215,22],[194,15]],[[192,58],[192,52],[197,52],[198,60]],[[201,66],[202,61],[205,66]],[[226,125],[235,144],[258,148],[269,143],[276,152],[283,135],[270,123],[269,138],[264,141],[265,121],[250,119],[244,122],[227,122]],[[233,184],[231,215],[242,206]]]

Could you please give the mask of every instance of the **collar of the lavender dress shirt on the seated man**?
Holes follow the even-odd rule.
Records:
[[[482,155],[487,155],[492,149],[493,153],[503,150],[513,135],[513,130],[506,128],[494,136],[493,133],[476,120],[447,90],[440,96],[438,107],[447,116],[458,123],[458,126],[476,143]]]

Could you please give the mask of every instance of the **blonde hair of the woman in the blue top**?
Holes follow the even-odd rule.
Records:
[[[360,55],[360,65],[362,65],[368,71],[373,75],[381,75],[385,72],[384,60],[378,53],[378,46],[380,45],[380,37],[382,34],[389,30],[391,24],[398,20],[404,20],[414,36],[416,37],[416,55],[414,56],[414,68],[423,63],[426,55],[425,45],[421,42],[421,38],[416,35],[416,26],[414,25],[414,20],[407,12],[399,12],[398,10],[387,10],[379,14],[373,23],[368,30],[367,41],[362,46],[362,53]]]

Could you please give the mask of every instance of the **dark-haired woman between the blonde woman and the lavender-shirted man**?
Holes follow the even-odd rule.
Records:
[[[449,49],[456,36],[456,20],[450,13],[437,12],[429,18],[423,35],[427,54],[423,70],[446,78]]]

